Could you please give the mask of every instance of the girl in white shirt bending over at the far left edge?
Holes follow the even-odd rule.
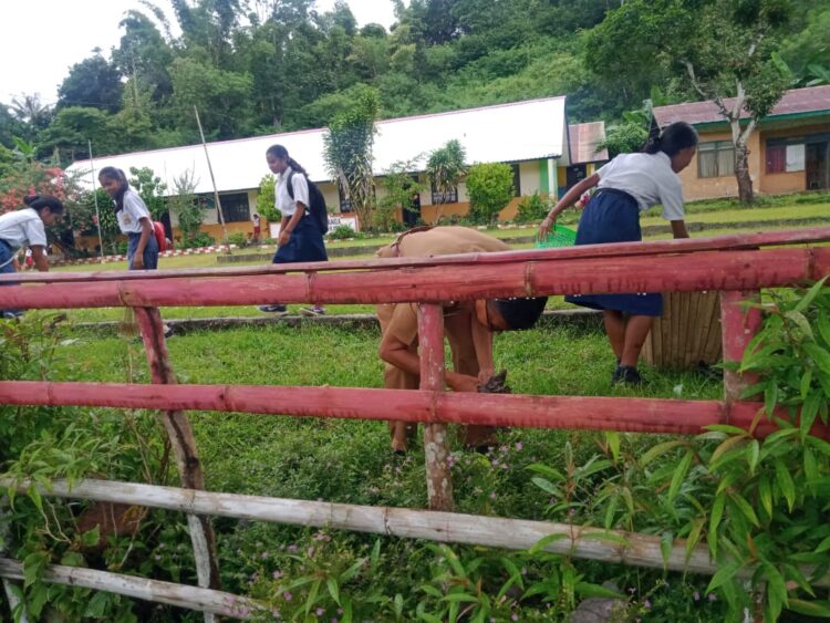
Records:
[[[30,195],[23,203],[25,208],[0,216],[0,273],[17,270],[18,253],[25,247],[31,249],[32,263],[38,270],[49,271],[44,226],[52,226],[62,218],[63,204],[52,195]],[[22,313],[20,310],[2,310],[3,318],[17,318]]]

